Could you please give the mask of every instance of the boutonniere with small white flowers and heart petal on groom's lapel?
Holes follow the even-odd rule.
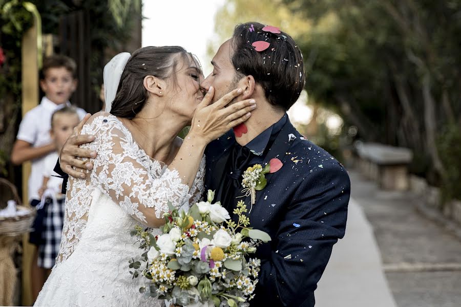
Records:
[[[282,168],[282,166],[282,161],[274,158],[271,159],[264,168],[261,164],[255,164],[248,167],[243,172],[242,186],[244,189],[242,190],[242,193],[244,193],[244,196],[252,196],[252,207],[249,212],[252,212],[253,205],[256,203],[256,191],[261,191],[266,187],[267,180],[265,175],[267,173],[275,173]]]

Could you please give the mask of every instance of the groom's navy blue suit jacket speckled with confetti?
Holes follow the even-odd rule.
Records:
[[[296,139],[290,140],[290,134]],[[234,142],[234,133],[229,131],[208,145],[206,189],[217,189]],[[333,244],[344,236],[349,176],[327,151],[305,140],[289,120],[264,161],[272,158],[280,159],[283,166],[266,174],[267,185],[256,192],[256,204],[249,214],[250,226],[272,239],[258,247],[261,272],[256,296],[249,303],[311,307]],[[245,203],[249,208],[249,196]]]

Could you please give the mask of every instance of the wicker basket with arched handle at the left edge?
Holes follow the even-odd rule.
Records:
[[[25,215],[0,217],[0,235],[18,235],[31,231],[31,226],[36,214],[35,208],[22,206],[16,187],[8,180],[0,178],[0,185],[6,186],[11,190],[14,201],[16,201],[16,209],[25,209],[29,211],[29,213]]]

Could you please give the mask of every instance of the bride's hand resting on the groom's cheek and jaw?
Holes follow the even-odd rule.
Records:
[[[214,92],[214,88],[210,87],[197,106],[189,132],[190,136],[199,137],[206,143],[245,122],[250,117],[250,112],[256,108],[254,99],[245,99],[228,105],[242,94],[242,89],[233,90],[212,104]]]

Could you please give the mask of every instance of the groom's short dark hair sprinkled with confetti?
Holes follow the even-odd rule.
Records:
[[[265,32],[264,27],[256,22],[235,27],[231,61],[236,78],[252,75],[263,87],[269,103],[286,111],[298,100],[304,88],[303,56],[291,36],[285,32]],[[270,46],[258,52],[252,44],[261,40]]]

